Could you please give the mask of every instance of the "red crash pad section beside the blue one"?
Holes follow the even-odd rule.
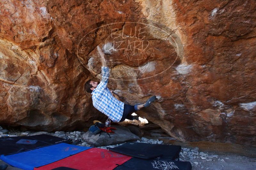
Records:
[[[108,151],[107,149],[91,148],[65,159],[35,168],[35,170],[50,170],[61,166],[73,169],[112,170],[117,166],[116,164],[123,164],[131,158],[131,156]]]

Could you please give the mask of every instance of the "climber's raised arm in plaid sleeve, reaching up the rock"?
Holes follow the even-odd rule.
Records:
[[[104,90],[107,88],[107,85],[108,85],[109,68],[104,59],[104,53],[101,51],[99,46],[97,46],[97,50],[100,54],[101,61],[102,61],[102,67],[101,67],[102,79],[100,81],[100,84],[97,86],[97,88]]]

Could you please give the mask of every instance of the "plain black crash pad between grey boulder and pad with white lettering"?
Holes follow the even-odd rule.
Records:
[[[136,158],[152,159],[161,157],[162,159],[174,160],[179,158],[181,146],[127,142],[114,148],[107,147],[107,149]]]

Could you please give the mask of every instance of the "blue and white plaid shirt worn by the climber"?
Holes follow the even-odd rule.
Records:
[[[109,68],[101,67],[102,79],[92,91],[92,104],[113,122],[119,122],[123,116],[124,103],[117,100],[108,89]]]

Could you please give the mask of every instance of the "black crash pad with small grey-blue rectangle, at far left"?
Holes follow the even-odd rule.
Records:
[[[0,155],[10,154],[20,151],[27,151],[37,147],[57,144],[68,143],[69,141],[63,138],[51,135],[34,135],[34,136],[17,136],[0,138]]]

